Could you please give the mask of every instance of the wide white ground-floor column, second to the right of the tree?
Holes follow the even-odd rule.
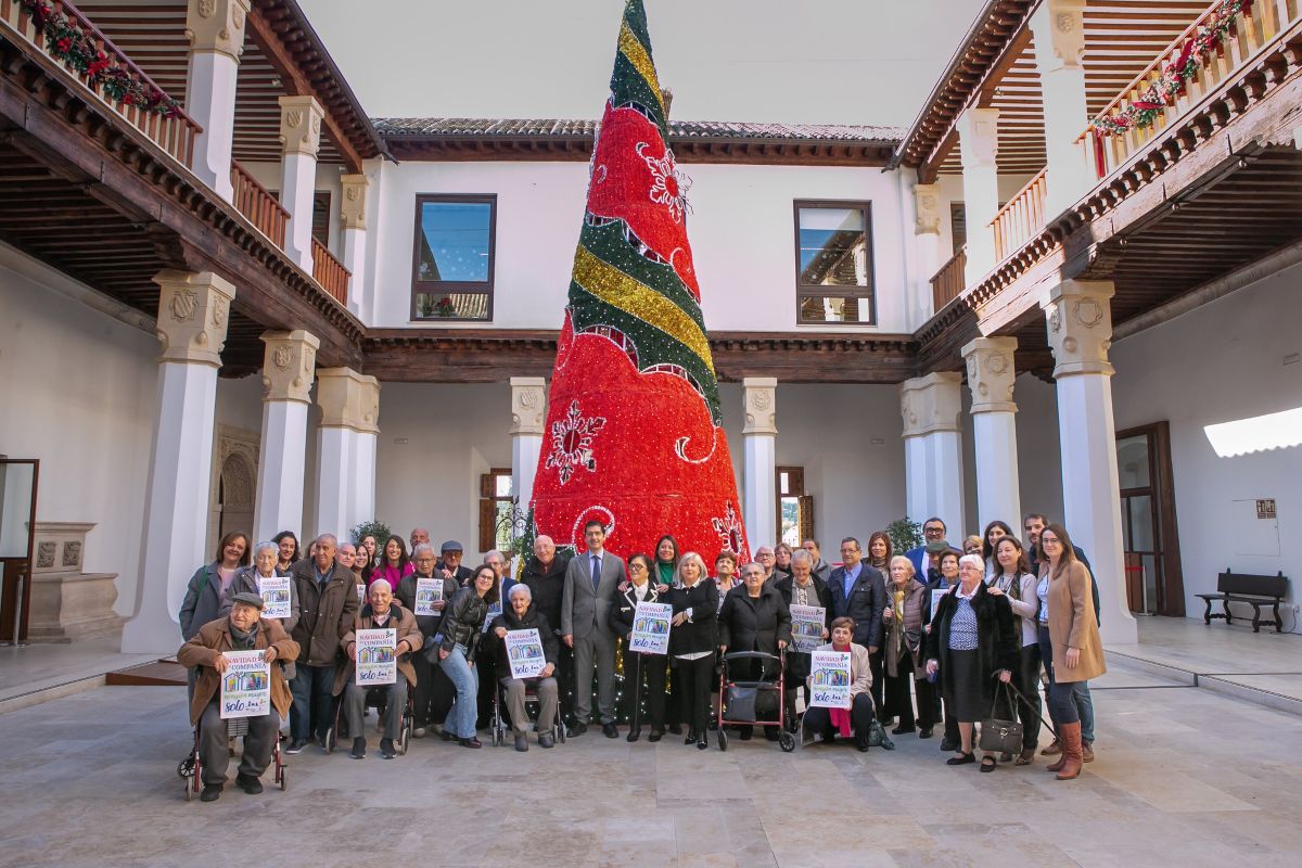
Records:
[[[950,541],[965,532],[962,383],[963,375],[940,371],[900,384],[909,518],[940,518]]]

